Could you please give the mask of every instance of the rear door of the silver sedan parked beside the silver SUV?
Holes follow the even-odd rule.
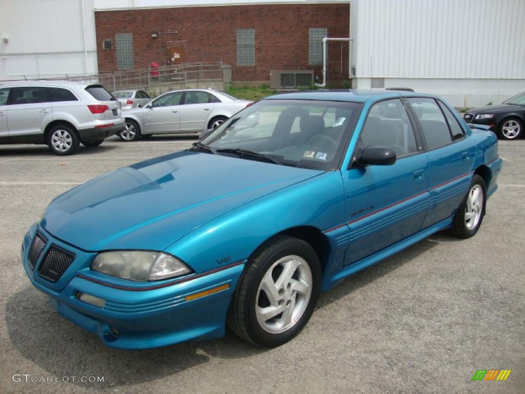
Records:
[[[216,102],[220,100],[206,91],[187,91],[184,106],[181,107],[181,131],[197,132],[207,129],[206,120]]]

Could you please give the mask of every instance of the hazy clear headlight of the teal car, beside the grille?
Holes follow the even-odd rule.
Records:
[[[178,258],[162,252],[114,251],[99,253],[91,269],[130,281],[159,281],[189,274]]]

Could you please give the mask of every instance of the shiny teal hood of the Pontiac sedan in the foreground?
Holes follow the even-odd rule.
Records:
[[[182,151],[69,190],[49,204],[40,225],[86,251],[163,250],[229,210],[320,173]]]

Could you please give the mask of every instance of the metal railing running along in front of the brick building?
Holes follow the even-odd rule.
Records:
[[[187,82],[199,80],[222,80],[229,84],[232,78],[232,66],[220,63],[184,63],[172,66],[148,67],[136,70],[119,70],[102,72],[101,74],[53,77],[26,78],[18,80],[67,80],[88,83],[98,83],[112,90],[130,88],[151,88],[171,82]],[[12,79],[10,81],[13,81]]]

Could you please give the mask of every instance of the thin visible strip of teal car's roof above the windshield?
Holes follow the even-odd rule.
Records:
[[[396,90],[355,90],[355,89],[319,89],[281,93],[264,100],[320,100],[365,102],[369,99],[381,100],[396,97],[434,97],[424,93]]]

